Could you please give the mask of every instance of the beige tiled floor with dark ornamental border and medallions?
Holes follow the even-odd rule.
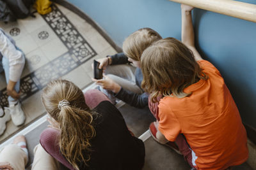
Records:
[[[62,77],[83,89],[92,83],[92,60],[116,53],[92,25],[58,4],[47,15],[36,13],[36,18],[1,23],[0,27],[26,55],[20,86],[26,122],[20,127],[8,122],[0,144],[45,114],[40,93],[49,80]],[[6,81],[1,73],[1,106],[8,105],[6,97]]]

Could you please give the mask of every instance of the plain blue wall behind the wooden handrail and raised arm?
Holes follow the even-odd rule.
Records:
[[[141,27],[180,39],[180,4],[168,0],[68,0],[100,25],[115,43]],[[256,4],[254,0],[244,0]],[[211,11],[193,11],[196,45],[220,69],[243,121],[256,128],[256,23]]]

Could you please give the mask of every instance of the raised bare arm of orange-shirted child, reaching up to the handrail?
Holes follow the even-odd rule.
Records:
[[[189,50],[193,52],[195,55],[195,60],[202,60],[202,57],[198,53],[198,51],[195,48],[195,34],[193,29],[193,23],[192,23],[192,16],[191,11],[194,7],[188,6],[186,4],[181,4],[181,41],[186,46],[188,46]]]

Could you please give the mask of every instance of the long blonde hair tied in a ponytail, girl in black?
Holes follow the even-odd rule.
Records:
[[[51,117],[60,124],[61,153],[79,169],[78,162],[86,164],[90,160],[90,139],[95,136],[93,113],[85,104],[83,92],[70,81],[51,81],[42,92],[42,102]],[[64,104],[60,106],[60,103]],[[84,156],[83,152],[88,155]]]

